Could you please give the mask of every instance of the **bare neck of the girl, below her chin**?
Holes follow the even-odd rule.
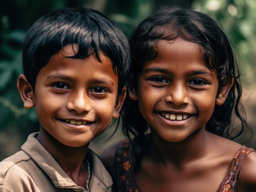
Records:
[[[151,144],[148,157],[159,163],[185,163],[203,157],[211,146],[212,134],[200,129],[180,142],[168,142],[151,130]]]

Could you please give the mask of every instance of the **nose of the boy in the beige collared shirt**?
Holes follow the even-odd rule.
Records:
[[[89,112],[92,107],[90,104],[90,97],[87,93],[76,92],[73,93],[69,101],[67,101],[67,110],[74,111],[76,113]]]

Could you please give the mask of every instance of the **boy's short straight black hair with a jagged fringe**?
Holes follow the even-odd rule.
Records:
[[[130,64],[128,40],[105,15],[84,7],[54,9],[36,20],[27,31],[22,64],[33,90],[40,69],[63,46],[73,43],[79,44],[79,52],[71,58],[84,59],[95,53],[100,61],[100,51],[110,58],[113,71],[118,74],[119,94]]]

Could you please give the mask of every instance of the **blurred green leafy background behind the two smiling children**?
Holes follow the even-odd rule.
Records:
[[[254,135],[246,143],[256,148],[256,1],[255,0],[1,0],[0,2],[0,160],[20,150],[31,132],[39,130],[34,109],[23,108],[16,89],[22,73],[22,42],[27,29],[54,7],[85,6],[112,19],[129,38],[135,26],[152,7],[166,4],[193,6],[215,18],[236,47],[242,71],[243,104]],[[110,126],[90,143],[98,154],[124,136]]]

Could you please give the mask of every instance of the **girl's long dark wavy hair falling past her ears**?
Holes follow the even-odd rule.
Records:
[[[160,7],[137,26],[130,39],[132,57],[128,81],[130,88],[137,90],[137,79],[143,64],[157,56],[158,40],[173,40],[177,37],[200,45],[205,64],[210,70],[217,71],[219,90],[234,77],[234,85],[225,103],[222,106],[215,106],[213,115],[206,124],[206,130],[228,139],[238,137],[248,126],[238,110],[242,94],[240,73],[224,30],[220,24],[203,13],[190,8]],[[230,134],[233,111],[241,122],[241,128],[236,135]],[[136,171],[146,151],[145,132],[148,123],[139,111],[138,102],[128,97],[124,104],[123,115],[123,131],[134,146]]]

